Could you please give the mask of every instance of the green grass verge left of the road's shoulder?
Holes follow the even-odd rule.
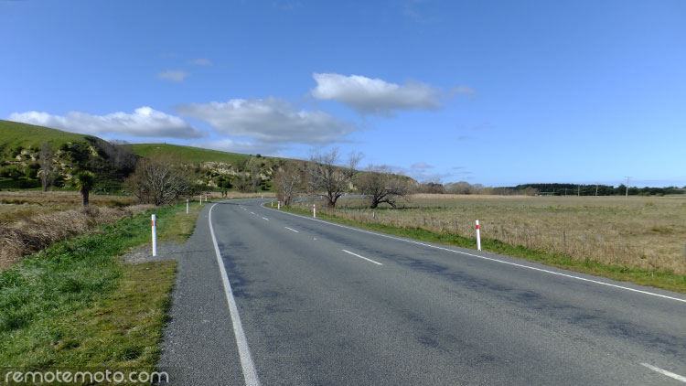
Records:
[[[117,258],[150,241],[153,212],[162,241],[185,240],[197,218],[186,217],[185,203],[147,210],[60,241],[0,273],[5,369],[155,368],[176,262]]]

